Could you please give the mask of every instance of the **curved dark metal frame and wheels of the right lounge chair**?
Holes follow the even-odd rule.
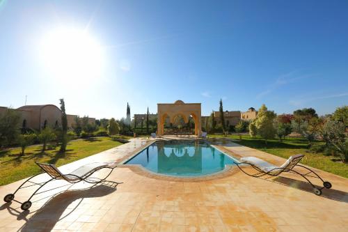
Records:
[[[248,176],[252,176],[252,177],[255,177],[255,178],[260,178],[262,176],[265,176],[265,175],[269,175],[269,176],[279,176],[281,173],[283,172],[289,172],[289,173],[294,173],[294,174],[297,174],[299,176],[302,176],[304,179],[307,180],[308,183],[310,183],[310,185],[312,185],[313,187],[313,193],[316,194],[316,195],[321,195],[322,194],[322,189],[326,188],[326,189],[330,189],[332,187],[331,183],[329,183],[328,181],[324,181],[317,173],[315,173],[315,171],[311,170],[311,169],[308,169],[308,167],[304,167],[300,164],[294,164],[290,169],[287,169],[287,167],[285,168],[282,168],[282,167],[278,167],[278,168],[275,168],[275,169],[271,169],[269,171],[264,171],[262,169],[260,169],[259,167],[255,166],[254,164],[250,164],[249,162],[234,162],[235,164],[237,164],[237,167],[243,171],[244,173],[246,173],[246,175]],[[244,171],[242,169],[242,167],[240,167],[239,165],[243,165],[243,164],[248,164],[250,165],[251,167],[253,167],[256,171],[258,171],[258,173],[255,173],[255,174],[249,174],[247,173],[246,171]],[[303,169],[307,169],[308,172],[307,173],[300,173],[299,171],[295,171],[294,170],[294,167],[301,167]],[[277,171],[278,173],[274,173],[274,171]],[[313,173],[315,176],[312,176],[310,175],[310,173]],[[323,187],[317,187],[316,185],[314,185],[310,179],[308,177],[313,177],[313,178],[318,178],[319,180],[322,180],[322,183],[323,183]]]

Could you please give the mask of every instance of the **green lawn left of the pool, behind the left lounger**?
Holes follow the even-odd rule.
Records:
[[[41,151],[42,145],[33,145],[25,150],[25,155],[20,156],[20,148],[8,148],[0,150],[0,185],[13,183],[16,180],[33,176],[40,172],[40,168],[34,163],[46,162],[57,167],[80,160],[84,157],[100,153],[103,150],[120,146],[117,139],[129,137],[95,137],[88,139],[76,139],[70,141],[65,153],[59,153],[59,147],[49,145],[45,152]]]

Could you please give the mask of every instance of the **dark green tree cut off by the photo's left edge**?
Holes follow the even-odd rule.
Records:
[[[16,141],[19,135],[20,118],[15,109],[6,109],[0,115],[0,146],[8,146]]]

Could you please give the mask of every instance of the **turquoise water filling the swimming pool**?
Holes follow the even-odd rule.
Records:
[[[140,164],[150,171],[168,176],[203,176],[233,165],[232,157],[204,141],[157,141],[125,164]]]

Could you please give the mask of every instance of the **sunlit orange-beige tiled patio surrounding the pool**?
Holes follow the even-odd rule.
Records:
[[[134,139],[62,169],[125,160],[150,142]],[[235,157],[284,162],[233,143],[219,148]],[[234,167],[210,178],[180,180],[125,166],[102,185],[79,183],[37,195],[29,211],[22,212],[16,202],[1,204],[0,231],[348,231],[348,180],[318,173],[333,184],[322,196],[295,176],[265,180]],[[1,197],[19,183],[0,187]],[[47,188],[64,184],[57,180]],[[30,187],[16,198],[25,200],[29,192]]]

